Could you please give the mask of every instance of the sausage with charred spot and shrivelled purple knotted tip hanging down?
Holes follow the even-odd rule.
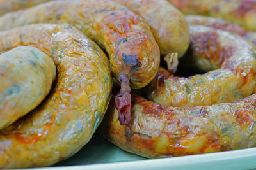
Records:
[[[109,0],[52,1],[0,17],[0,30],[36,22],[68,23],[104,47],[111,69],[121,85],[140,89],[156,76],[159,47],[143,19]],[[124,78],[127,77],[127,78]],[[116,96],[120,122],[131,120],[130,88]],[[121,119],[123,117],[123,119]]]

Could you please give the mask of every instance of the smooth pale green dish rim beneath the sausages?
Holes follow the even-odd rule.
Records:
[[[254,161],[253,161],[254,160]],[[86,164],[79,166],[40,167],[31,170],[78,170],[78,169],[253,169],[256,168],[256,148],[227,152],[205,153],[162,159],[126,162]]]

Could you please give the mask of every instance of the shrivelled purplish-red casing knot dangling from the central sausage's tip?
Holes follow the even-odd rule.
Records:
[[[120,92],[115,97],[115,106],[118,111],[118,120],[121,125],[127,125],[131,121],[131,87],[127,74],[120,74]]]

